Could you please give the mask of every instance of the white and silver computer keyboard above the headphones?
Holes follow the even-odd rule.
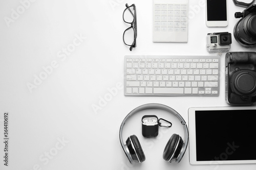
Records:
[[[220,56],[124,56],[124,95],[219,96]]]

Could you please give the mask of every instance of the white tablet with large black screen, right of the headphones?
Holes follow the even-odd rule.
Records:
[[[256,163],[256,107],[188,109],[190,164]]]

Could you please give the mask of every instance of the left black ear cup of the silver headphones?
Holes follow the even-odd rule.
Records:
[[[143,162],[146,158],[142,147],[140,145],[139,139],[136,135],[131,135],[126,140],[127,148],[130,151],[130,154],[133,160],[137,160],[138,162]]]

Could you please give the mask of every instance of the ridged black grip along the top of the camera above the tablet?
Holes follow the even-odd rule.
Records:
[[[228,63],[248,63],[256,65],[255,52],[230,52],[226,54]]]

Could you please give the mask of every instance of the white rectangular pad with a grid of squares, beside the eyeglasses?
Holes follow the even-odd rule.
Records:
[[[188,0],[154,0],[153,41],[187,42]]]

